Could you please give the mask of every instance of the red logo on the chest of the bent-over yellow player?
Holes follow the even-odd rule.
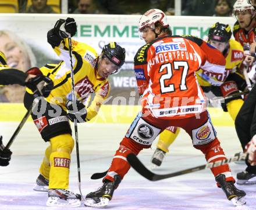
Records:
[[[74,90],[81,98],[85,98],[89,93],[94,92],[93,83],[86,76],[75,84]]]

